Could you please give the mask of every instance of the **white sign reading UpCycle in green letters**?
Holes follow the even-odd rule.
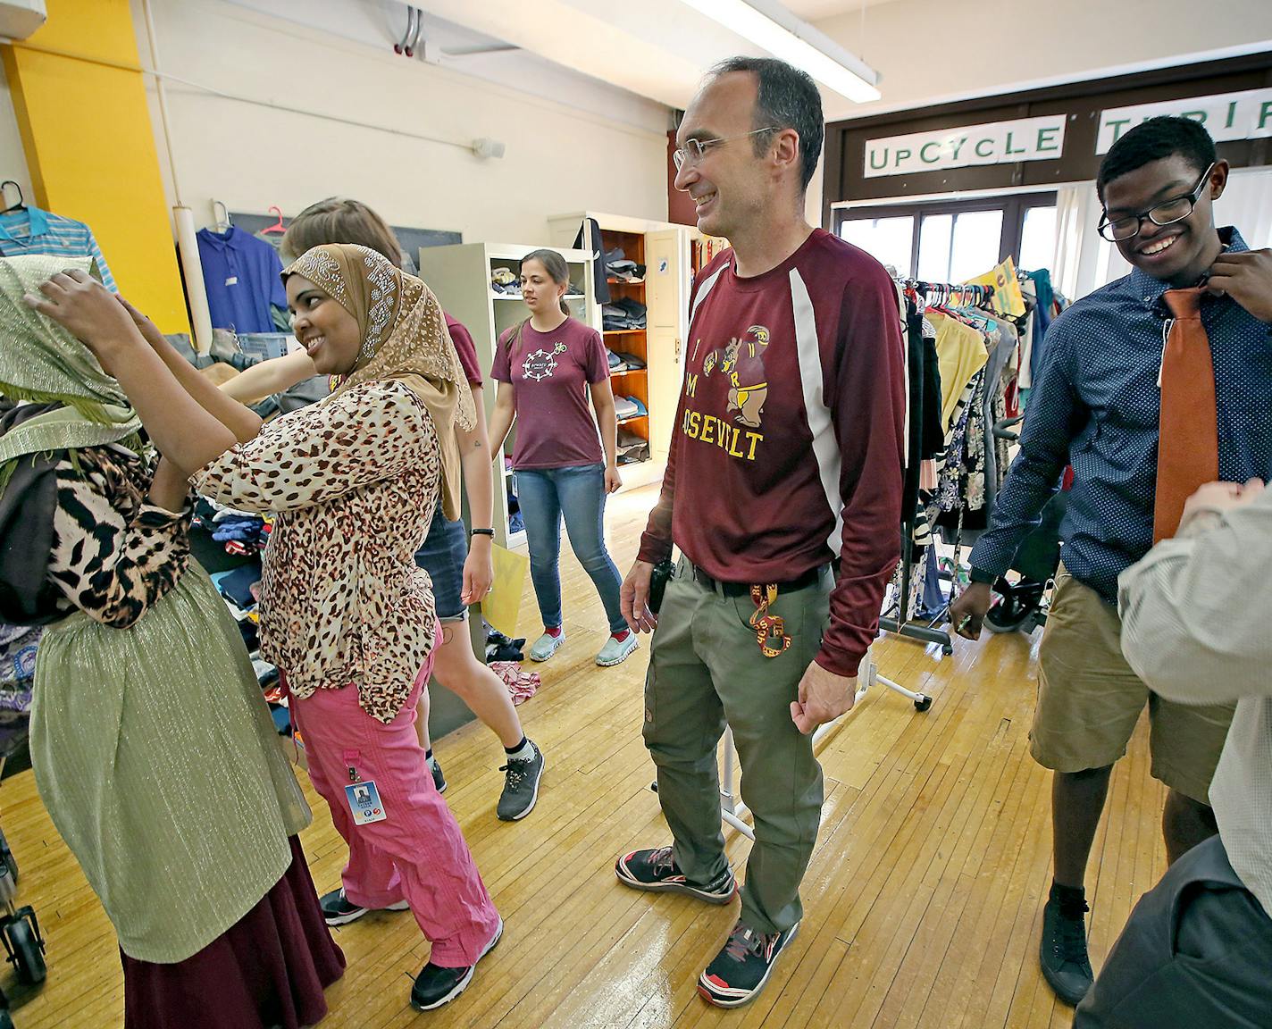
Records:
[[[1065,149],[1065,116],[964,125],[866,142],[865,178],[1021,160],[1054,160]]]

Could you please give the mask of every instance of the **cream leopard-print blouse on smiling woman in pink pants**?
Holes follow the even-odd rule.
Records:
[[[415,552],[440,487],[438,434],[399,382],[364,383],[267,422],[193,477],[205,496],[277,520],[261,577],[261,654],[296,697],[356,683],[389,722],[434,646]]]

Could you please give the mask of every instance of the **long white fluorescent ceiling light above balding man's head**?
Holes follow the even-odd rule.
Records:
[[[878,100],[879,73],[775,0],[682,0],[855,103]]]

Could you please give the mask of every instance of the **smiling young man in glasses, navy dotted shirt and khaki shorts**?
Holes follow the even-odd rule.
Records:
[[[1072,464],[1030,731],[1033,757],[1054,772],[1054,879],[1042,969],[1068,1004],[1091,984],[1086,864],[1109,775],[1145,703],[1152,775],[1169,790],[1163,815],[1169,860],[1215,833],[1207,794],[1231,705],[1187,706],[1150,692],[1122,656],[1117,577],[1154,541],[1169,290],[1205,287],[1201,326],[1213,364],[1219,478],[1272,474],[1272,252],[1250,252],[1235,229],[1215,226],[1212,205],[1227,174],[1206,130],[1187,118],[1152,118],[1104,158],[1096,182],[1100,233],[1133,271],[1079,300],[1048,329],[1020,454],[991,527],[972,551],[973,585],[950,608],[958,631],[976,639],[990,584],[1007,571]],[[1203,425],[1198,418],[1197,431],[1206,431]]]

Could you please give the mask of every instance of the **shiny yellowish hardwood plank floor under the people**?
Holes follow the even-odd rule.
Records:
[[[651,490],[611,501],[613,555],[626,571]],[[520,712],[547,756],[539,803],[524,822],[495,818],[502,753],[471,724],[436,752],[477,865],[505,921],[504,941],[468,991],[440,1011],[407,1005],[429,948],[408,913],[373,915],[337,931],[349,959],[323,1026],[1068,1026],[1038,973],[1049,884],[1049,775],[1028,754],[1037,635],[959,644],[953,658],[888,639],[883,674],[935,697],[926,714],[879,688],[820,758],[826,806],[804,881],[806,917],[768,987],[749,1006],[703,1004],[695,981],[736,917],[684,897],[618,885],[614,856],[668,841],[640,739],[642,644],[599,669],[604,618],[572,557],[563,567],[569,642]],[[527,584],[522,632],[538,622]],[[345,850],[308,787],[305,852],[319,890],[340,881]],[[1141,725],[1113,777],[1095,843],[1093,959],[1099,967],[1131,904],[1161,874],[1163,791],[1149,777]],[[19,902],[48,940],[39,992],[4,979],[19,1029],[97,1029],[121,1021],[114,937],[53,832],[31,772],[0,790],[3,824],[22,869]],[[1112,827],[1112,828],[1109,828]],[[729,832],[735,865],[748,843]],[[11,984],[11,986],[10,986]],[[214,998],[210,998],[215,1002]]]

